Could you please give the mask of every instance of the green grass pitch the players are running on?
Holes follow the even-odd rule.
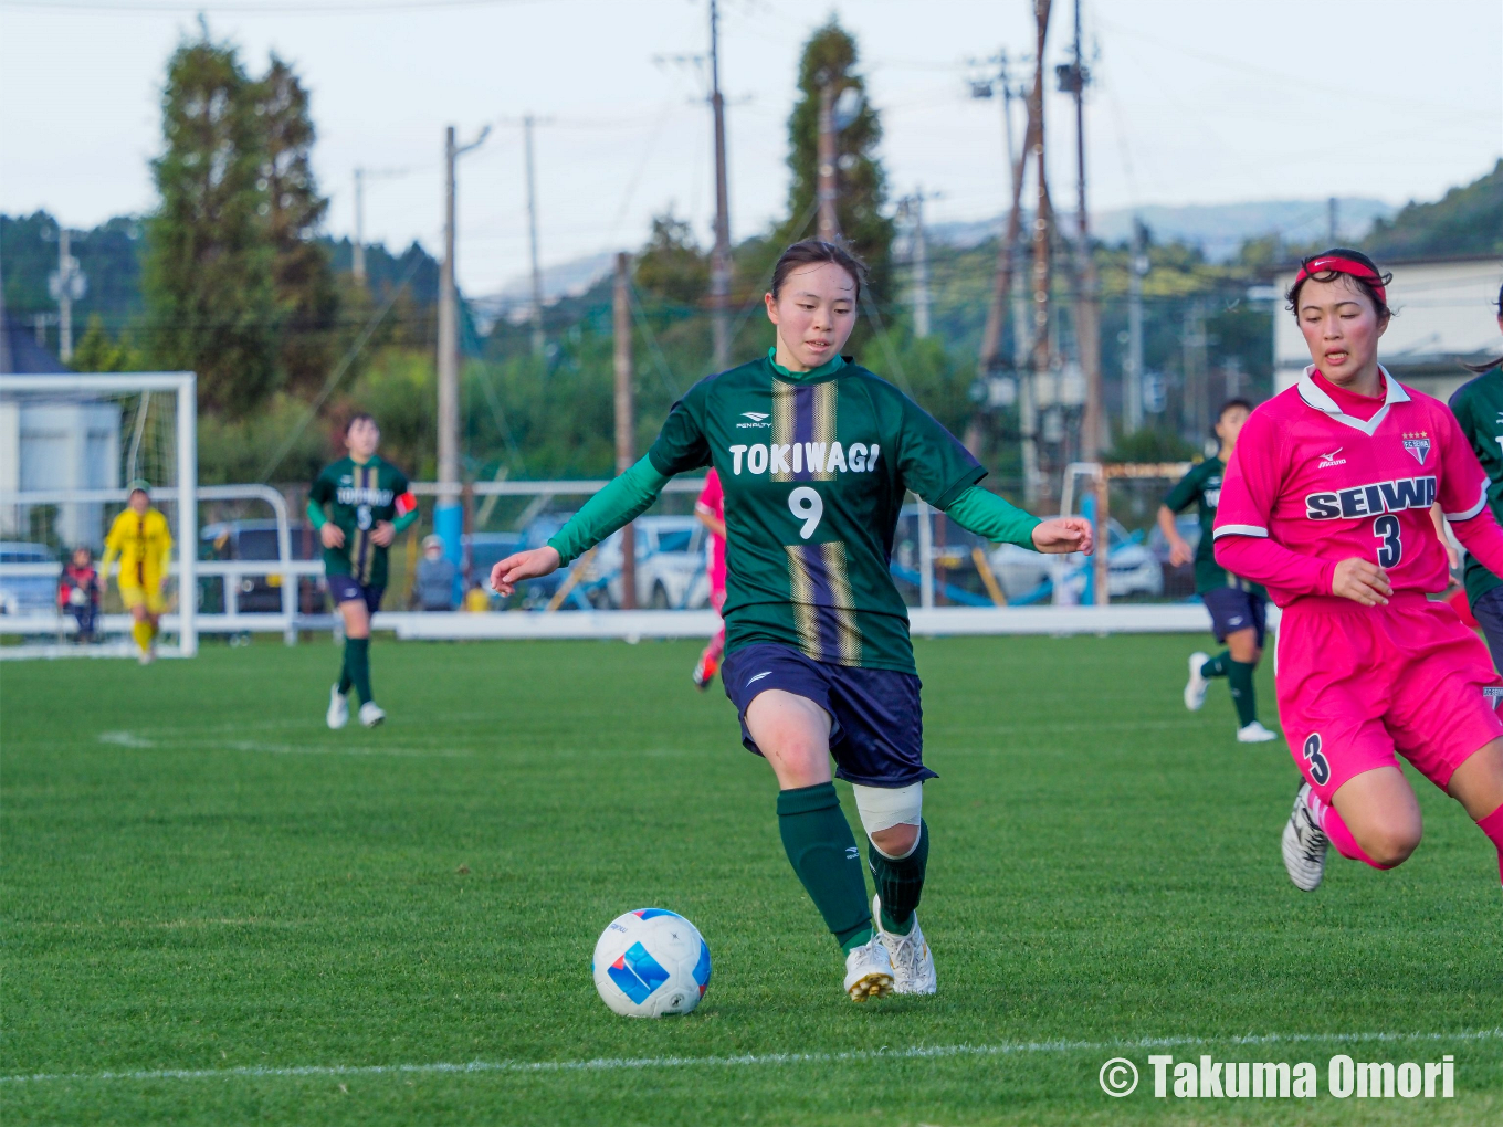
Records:
[[[6,664],[0,1116],[1503,1122],[1491,848],[1420,781],[1408,864],[1333,858],[1296,891],[1294,768],[1232,739],[1225,685],[1184,711],[1199,645],[917,643],[939,995],[866,1007],[783,858],[771,772],[718,687],[688,682],[694,645],[377,639],[376,732],[325,729],[326,642]],[[1272,721],[1267,667],[1260,691]],[[690,1017],[595,996],[597,935],[649,905],[714,953]],[[1157,1100],[1148,1038],[1312,1061],[1321,1095]],[[1453,1053],[1456,1097],[1333,1098],[1342,1050]],[[1097,1083],[1112,1056],[1144,1074],[1120,1100]],[[427,1067],[476,1061],[505,1067]],[[161,1070],[224,1074],[104,1076]]]

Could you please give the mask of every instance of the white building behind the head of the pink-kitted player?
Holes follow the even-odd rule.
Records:
[[[1378,359],[1399,383],[1438,400],[1471,379],[1462,362],[1480,364],[1503,353],[1497,299],[1503,257],[1428,258],[1378,263],[1393,272],[1389,308],[1395,317],[1378,344]],[[1294,284],[1294,270],[1276,279],[1279,293]],[[1294,314],[1273,317],[1273,386],[1284,391],[1311,362]]]

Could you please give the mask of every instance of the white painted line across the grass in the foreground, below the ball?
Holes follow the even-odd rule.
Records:
[[[1144,1037],[1124,1041],[1018,1041],[1012,1044],[933,1044],[911,1049],[863,1049],[836,1053],[745,1053],[741,1056],[613,1056],[592,1061],[470,1061],[469,1064],[305,1064],[287,1068],[253,1065],[237,1068],[156,1068],[132,1073],[35,1073],[0,1076],[0,1083],[74,1083],[105,1080],[215,1080],[281,1079],[299,1076],[422,1076],[446,1073],[580,1073],[624,1068],[739,1068],[753,1065],[842,1064],[848,1061],[902,1061],[942,1056],[1013,1056],[1025,1053],[1120,1052],[1123,1049],[1168,1049],[1190,1044],[1305,1044],[1357,1041],[1495,1041],[1503,1029],[1464,1032],[1356,1032],[1356,1034],[1258,1034],[1246,1037]]]

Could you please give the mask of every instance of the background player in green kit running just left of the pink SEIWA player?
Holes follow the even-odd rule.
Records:
[[[1175,567],[1195,559],[1195,594],[1211,613],[1211,630],[1223,649],[1216,657],[1190,654],[1190,679],[1184,685],[1184,706],[1198,712],[1205,703],[1210,678],[1226,678],[1231,685],[1231,703],[1237,709],[1237,739],[1243,744],[1264,744],[1278,736],[1258,723],[1258,699],[1252,685],[1252,673],[1263,655],[1263,639],[1267,633],[1269,597],[1257,583],[1232,576],[1216,562],[1211,526],[1216,523],[1216,502],[1220,499],[1222,475],[1231,452],[1237,448],[1237,433],[1252,415],[1247,400],[1228,400],[1216,416],[1216,437],[1220,451],[1192,469],[1180,484],[1169,490],[1159,506],[1159,527],[1169,541],[1169,562]],[[1201,518],[1201,542],[1195,547],[1184,542],[1174,526],[1174,514],[1190,505],[1198,506]]]

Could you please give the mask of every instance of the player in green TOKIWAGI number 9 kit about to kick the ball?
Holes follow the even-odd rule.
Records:
[[[933,993],[914,917],[929,858],[923,715],[908,610],[888,559],[912,490],[965,529],[1039,551],[1090,551],[1091,526],[1040,521],[977,487],[986,470],[918,404],[840,356],[855,328],[861,264],[807,240],[777,261],[777,326],[765,358],[700,380],[652,449],[546,547],[491,571],[511,594],[645,511],[675,473],[712,466],[724,488],[726,696],[741,741],[777,775],[783,848],[846,956],[854,1001]],[[876,884],[834,774],[855,790]]]

